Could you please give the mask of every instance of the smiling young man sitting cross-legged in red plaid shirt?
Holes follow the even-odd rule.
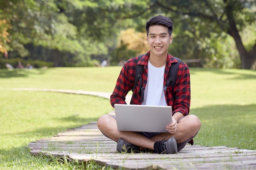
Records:
[[[168,133],[129,132],[117,130],[115,116],[102,115],[97,121],[99,130],[117,142],[118,152],[154,150],[159,154],[174,154],[187,143],[193,145],[201,122],[195,115],[189,115],[190,74],[188,66],[181,62],[177,82],[174,88],[163,90],[168,79],[168,71],[177,60],[168,54],[168,47],[173,41],[173,22],[162,15],[150,18],[146,23],[147,42],[150,51],[138,64],[144,65],[141,77],[144,87],[144,100],[141,101],[139,82],[130,104],[162,105],[173,107],[173,122],[166,126]],[[117,79],[115,89],[110,96],[110,103],[126,104],[127,93],[134,86],[137,57],[128,60]]]

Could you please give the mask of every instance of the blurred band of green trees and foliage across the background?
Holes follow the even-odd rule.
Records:
[[[112,57],[121,30],[144,32],[148,18],[160,14],[174,22],[174,56],[200,59],[204,66],[248,69],[256,60],[255,36],[247,36],[256,32],[255,11],[254,0],[1,1],[0,21],[6,21],[0,24],[0,33],[5,33],[1,52],[35,60],[33,46],[43,51],[36,53],[37,60],[54,61],[55,66],[92,66],[93,60]],[[61,55],[56,57],[54,51]]]

